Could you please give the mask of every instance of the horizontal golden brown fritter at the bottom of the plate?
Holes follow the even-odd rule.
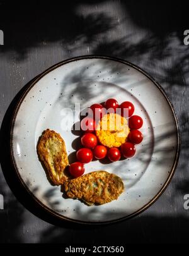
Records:
[[[120,177],[107,171],[94,171],[64,183],[67,197],[82,199],[86,204],[106,204],[118,198],[124,185]]]

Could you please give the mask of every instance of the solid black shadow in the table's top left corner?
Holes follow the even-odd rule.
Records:
[[[0,52],[15,51],[21,60],[33,47],[52,42],[59,42],[62,49],[68,46],[76,49],[81,39],[90,44],[115,25],[104,13],[79,15],[76,9],[81,3],[77,0],[50,4],[1,1],[0,29],[4,32],[4,46]]]

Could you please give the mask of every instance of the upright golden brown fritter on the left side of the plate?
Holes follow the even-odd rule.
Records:
[[[66,146],[62,137],[55,131],[45,130],[37,145],[40,160],[48,171],[54,185],[61,185],[67,180],[65,168],[69,164]]]

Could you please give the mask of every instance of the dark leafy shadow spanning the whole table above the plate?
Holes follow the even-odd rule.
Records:
[[[89,5],[95,8],[103,6],[105,2],[92,1]],[[4,30],[5,42],[0,52],[10,58],[16,52],[18,60],[21,60],[27,58],[34,47],[58,42],[62,52],[65,49],[73,56],[74,52],[83,52],[81,45],[84,44],[90,47],[91,54],[112,55],[135,61],[168,86],[186,85],[184,75],[188,72],[186,66],[189,51],[183,45],[183,32],[188,23],[185,4],[172,3],[170,8],[168,3],[149,3],[146,6],[144,3],[136,5],[135,1],[119,1],[116,7],[122,8],[123,16],[119,23],[115,16],[105,13],[105,9],[99,11],[98,8],[98,11],[84,15],[78,9],[85,5],[88,6],[88,1],[72,1],[62,5],[51,3],[50,6],[37,1],[17,1],[11,4],[2,1],[0,28]],[[115,7],[112,2],[110,9],[111,6]],[[133,34],[130,34],[127,19],[139,30],[134,27]],[[118,33],[119,29],[125,33]],[[111,33],[115,36],[110,38]],[[158,64],[158,69],[149,66],[151,59]],[[161,63],[163,60],[167,64]]]

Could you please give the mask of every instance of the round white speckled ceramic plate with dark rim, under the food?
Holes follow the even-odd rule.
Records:
[[[60,186],[50,185],[36,147],[42,131],[50,128],[62,135],[71,159],[78,136],[71,131],[72,119],[67,119],[70,109],[76,102],[84,109],[110,97],[134,103],[135,114],[144,120],[144,140],[132,159],[86,164],[86,173],[106,170],[125,185],[118,200],[88,207],[62,197]],[[56,64],[26,89],[13,118],[11,155],[20,180],[45,210],[70,221],[115,222],[147,209],[171,180],[178,154],[178,122],[162,88],[146,72],[120,59],[83,56]]]

